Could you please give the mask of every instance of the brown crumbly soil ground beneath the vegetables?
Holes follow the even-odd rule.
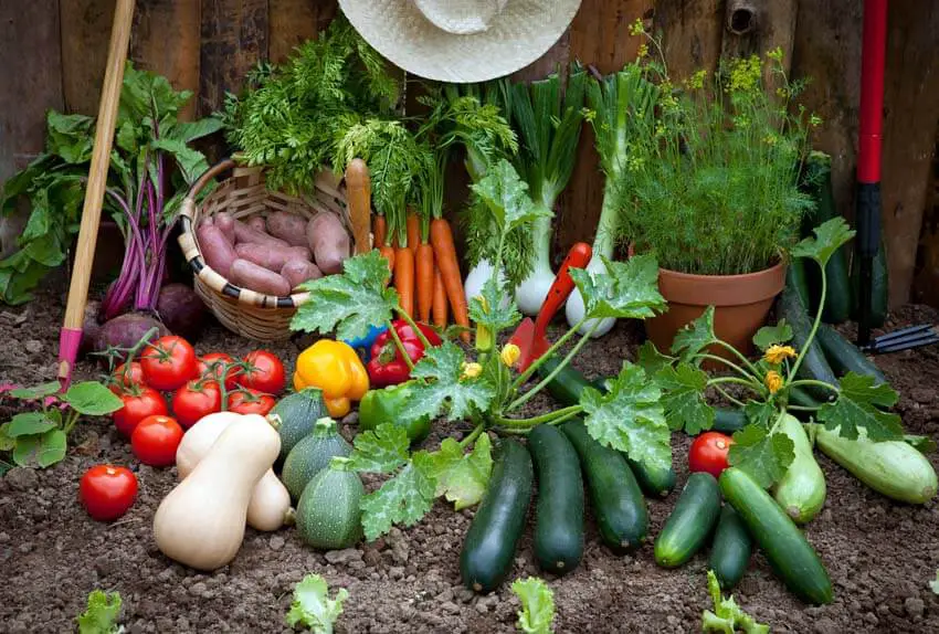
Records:
[[[62,288],[53,285],[29,306],[0,309],[0,382],[54,378]],[[935,310],[906,307],[887,329],[937,320]],[[637,325],[620,325],[588,346],[576,364],[591,377],[615,372],[641,340]],[[272,349],[293,359],[298,344]],[[233,355],[252,347],[215,324],[197,345],[200,352]],[[901,394],[898,411],[909,432],[939,440],[939,348],[885,356],[878,363]],[[82,377],[95,371],[88,363],[80,368]],[[11,413],[0,406],[0,419]],[[344,434],[351,437],[354,427],[345,424]],[[429,442],[452,431],[439,427]],[[675,434],[673,443],[680,488],[689,441]],[[202,574],[162,557],[151,537],[154,511],[176,483],[175,468],[139,465],[105,420],[76,427],[70,444],[74,448],[53,468],[13,469],[0,479],[0,632],[73,631],[74,616],[96,588],[120,592],[122,622],[130,633],[282,632],[293,584],[309,572],[325,575],[334,592],[348,589],[339,632],[514,631],[518,603],[508,584],[488,596],[461,584],[457,560],[472,511],[454,513],[437,503],[415,527],[325,553],[306,548],[294,529],[249,529],[231,566]],[[931,459],[939,467],[939,455]],[[82,473],[102,462],[128,465],[140,483],[136,505],[112,525],[93,521],[76,501]],[[834,603],[802,604],[759,553],[736,589],[737,601],[774,632],[939,632],[939,596],[928,585],[939,568],[939,505],[890,503],[824,456],[819,462],[829,495],[806,535],[827,566]],[[676,498],[677,492],[650,500],[651,536]],[[582,564],[565,578],[547,577],[557,632],[700,631],[701,611],[710,607],[706,553],[678,570],[663,570],[653,562],[651,545],[633,557],[616,557],[599,543],[590,517],[587,526]],[[539,574],[530,527],[511,578],[529,574]]]

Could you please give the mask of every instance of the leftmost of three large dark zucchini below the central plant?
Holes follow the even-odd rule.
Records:
[[[528,450],[516,441],[503,441],[496,450],[489,486],[460,553],[460,573],[466,588],[490,592],[505,580],[525,528],[532,478]]]

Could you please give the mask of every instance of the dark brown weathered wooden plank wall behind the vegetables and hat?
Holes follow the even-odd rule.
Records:
[[[721,52],[779,45],[793,76],[812,77],[803,102],[825,121],[816,147],[832,154],[836,203],[852,218],[862,6],[859,0],[582,0],[561,40],[516,76],[538,77],[574,59],[614,71],[635,55],[639,41],[629,27],[636,19],[663,32],[675,77],[714,70]],[[13,155],[41,148],[45,108],[96,112],[113,9],[114,0],[0,3],[0,59],[21,60],[0,68],[0,179],[13,169]],[[336,0],[138,0],[131,57],[193,91],[187,114],[204,115],[222,104],[226,91],[239,88],[257,61],[283,61],[336,11]],[[894,0],[889,21],[884,229],[890,297],[894,306],[907,302],[916,279],[915,298],[939,305],[930,177],[939,121],[939,3]],[[592,146],[585,130],[558,209],[558,256],[572,242],[592,237],[600,213],[603,181]]]

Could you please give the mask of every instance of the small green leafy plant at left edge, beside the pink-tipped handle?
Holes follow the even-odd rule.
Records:
[[[39,409],[21,412],[0,425],[0,452],[10,452],[13,463],[45,468],[62,461],[68,434],[78,416],[104,416],[124,403],[95,381],[75,383],[63,394],[57,381],[7,392],[15,400],[38,403]]]

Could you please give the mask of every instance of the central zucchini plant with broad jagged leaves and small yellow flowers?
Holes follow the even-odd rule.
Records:
[[[548,211],[532,202],[527,184],[507,160],[495,163],[472,187],[492,212],[498,229],[493,268],[499,271],[506,236],[519,229],[529,230]],[[587,327],[587,332],[563,355],[553,371],[528,387],[538,368],[548,359],[560,357],[561,348],[588,320],[599,324],[598,318],[603,317],[644,319],[655,310],[665,309],[654,257],[637,256],[626,263],[604,260],[604,264],[603,271],[571,271],[584,297],[583,319],[520,374],[510,369],[518,356],[517,348],[497,349],[499,334],[514,328],[521,315],[495,274],[470,303],[472,350],[452,340],[433,347],[424,341],[426,352],[411,371],[410,400],[401,415],[415,421],[425,416],[466,420],[472,426],[460,441],[449,437],[435,451],[410,453],[404,430],[383,424],[359,434],[349,457],[334,458],[338,468],[391,475],[381,488],[362,499],[367,539],[378,538],[395,524],[415,524],[437,496],[453,501],[457,509],[478,503],[493,465],[489,435],[484,433],[488,431],[500,435],[526,434],[535,425],[559,424],[583,414],[590,435],[603,445],[650,467],[671,465],[671,432],[661,402],[662,389],[641,366],[625,362],[605,394],[585,390],[578,404],[537,416],[518,414],[519,408],[544,390],[583,348],[597,326]],[[399,307],[398,293],[388,287],[388,266],[377,251],[347,260],[341,275],[303,286],[309,292],[310,300],[298,309],[292,328],[335,334],[337,339],[349,340],[365,336],[371,326],[390,326],[394,316],[413,325]]]

